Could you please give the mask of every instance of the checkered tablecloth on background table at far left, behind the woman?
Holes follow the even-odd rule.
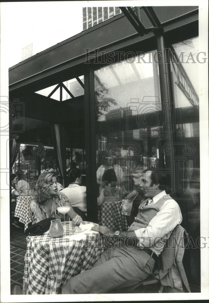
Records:
[[[24,230],[28,228],[28,224],[32,222],[31,215],[29,211],[29,203],[33,196],[18,196],[15,217],[19,218],[19,221],[25,225]]]

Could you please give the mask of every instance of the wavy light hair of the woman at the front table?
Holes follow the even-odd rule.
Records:
[[[34,191],[34,198],[38,203],[43,203],[50,198],[50,183],[52,182],[53,177],[56,178],[54,172],[46,172],[38,177],[36,189]]]

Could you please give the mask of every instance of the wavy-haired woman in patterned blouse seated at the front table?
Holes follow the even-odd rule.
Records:
[[[79,225],[82,218],[73,210],[66,195],[57,190],[56,175],[53,172],[41,174],[38,177],[34,198],[29,205],[32,224],[47,218],[62,219],[63,215],[57,211],[57,208],[65,205],[70,206],[67,215],[76,225]]]

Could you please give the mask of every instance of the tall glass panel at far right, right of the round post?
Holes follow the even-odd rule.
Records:
[[[188,60],[196,58],[198,37],[173,45],[178,57],[182,53],[179,64],[171,65],[172,87],[176,110],[176,156],[184,161],[185,171],[180,171],[184,199],[182,209],[182,226],[186,228],[194,243],[200,236],[200,143],[199,143],[199,106],[198,106],[198,62]],[[188,61],[188,62],[187,62]],[[187,63],[186,63],[187,62]],[[184,68],[183,74],[181,67]],[[179,72],[179,78],[178,78]],[[185,81],[186,79],[186,81]],[[179,82],[181,85],[179,85]],[[195,95],[195,93],[196,95]],[[193,92],[193,93],[192,93]],[[193,282],[200,281],[200,250],[188,251],[188,278]],[[188,274],[188,272],[187,272]]]

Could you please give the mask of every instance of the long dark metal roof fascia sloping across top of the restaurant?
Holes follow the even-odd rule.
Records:
[[[151,47],[159,32],[172,43],[198,35],[197,6],[142,7],[138,13],[124,7],[123,11],[135,26],[125,15],[116,15],[9,68],[9,92],[18,97],[78,77],[89,66],[87,55],[93,62],[104,52],[136,48],[140,42]]]

